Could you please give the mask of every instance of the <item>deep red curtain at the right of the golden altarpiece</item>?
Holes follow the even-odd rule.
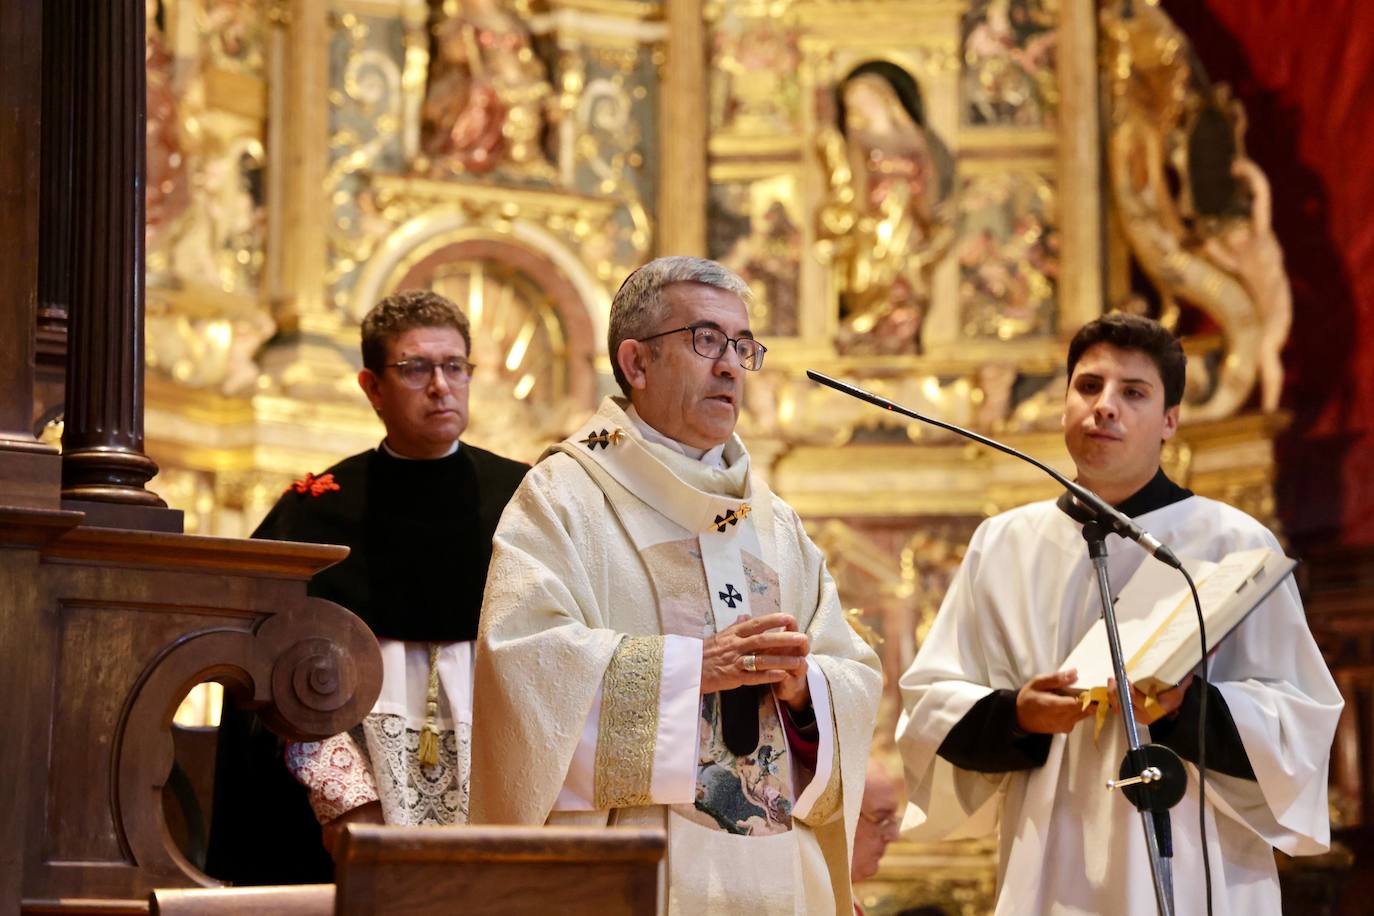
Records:
[[[1116,1],[1116,0],[1106,0]],[[1140,3],[1142,0],[1136,0]],[[1279,511],[1300,548],[1374,544],[1374,3],[1165,0],[1249,114],[1293,283]]]

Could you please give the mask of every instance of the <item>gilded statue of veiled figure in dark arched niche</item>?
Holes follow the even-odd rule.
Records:
[[[822,95],[818,143],[829,173],[820,254],[840,291],[837,346],[919,353],[930,271],[954,240],[954,166],[926,126],[910,73],[886,60],[855,67]]]

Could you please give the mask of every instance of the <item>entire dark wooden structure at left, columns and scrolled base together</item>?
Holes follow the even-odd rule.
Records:
[[[217,883],[162,808],[201,681],[297,740],[382,685],[367,626],[306,596],[346,548],[185,536],[146,486],[146,22],[143,0],[0,3],[0,916]]]

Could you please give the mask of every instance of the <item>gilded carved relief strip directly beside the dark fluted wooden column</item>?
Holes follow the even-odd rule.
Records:
[[[260,304],[264,5],[147,5],[147,365],[227,394],[253,390],[275,330]]]

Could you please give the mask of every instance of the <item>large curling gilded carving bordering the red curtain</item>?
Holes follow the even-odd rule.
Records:
[[[1190,361],[1184,409],[1191,419],[1230,416],[1259,379],[1261,409],[1272,411],[1292,291],[1270,225],[1268,181],[1243,154],[1243,111],[1180,52],[1187,38],[1158,7],[1103,16],[1107,165],[1123,231],[1158,294],[1161,320],[1176,324],[1182,306],[1193,306],[1224,338],[1215,365]]]

